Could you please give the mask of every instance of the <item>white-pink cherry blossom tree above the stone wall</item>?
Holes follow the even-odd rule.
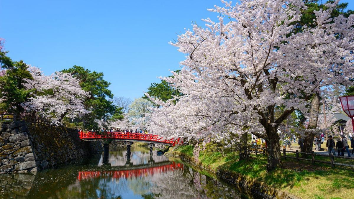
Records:
[[[75,119],[90,113],[84,107],[88,92],[81,89],[78,79],[69,73],[55,72],[44,75],[39,68],[30,67],[33,80],[28,80],[27,89],[34,89],[33,97],[23,106],[35,111],[52,124],[61,124],[64,117]]]

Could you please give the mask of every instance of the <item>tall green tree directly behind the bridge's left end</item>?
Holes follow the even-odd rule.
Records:
[[[108,89],[110,83],[103,79],[102,72],[91,72],[81,66],[73,66],[62,72],[70,73],[78,78],[81,88],[90,92],[84,104],[87,110],[91,110],[91,113],[75,121],[77,124],[82,122],[85,128],[97,130],[98,121],[104,126],[109,120],[123,119],[121,108],[114,106],[112,100],[108,100],[113,98],[113,94]]]

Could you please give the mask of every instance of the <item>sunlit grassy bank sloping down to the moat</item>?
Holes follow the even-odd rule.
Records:
[[[193,156],[193,146],[178,146],[170,153]],[[219,152],[199,153],[199,162],[214,171],[218,169],[237,172],[249,180],[262,182],[269,187],[291,193],[299,198],[354,198],[354,169],[331,168],[330,165],[287,158],[284,169],[266,171],[267,157],[252,155],[250,161],[238,161],[236,153],[222,157]],[[353,163],[352,163],[353,164]]]

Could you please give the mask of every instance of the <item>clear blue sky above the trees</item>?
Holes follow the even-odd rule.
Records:
[[[354,10],[354,0],[349,9]],[[218,0],[0,0],[0,37],[8,56],[45,74],[74,65],[104,73],[115,96],[141,97],[179,69],[184,55],[168,44],[192,21],[216,18]]]

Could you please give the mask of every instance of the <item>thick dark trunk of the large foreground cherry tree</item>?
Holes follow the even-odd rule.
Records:
[[[264,137],[264,140],[267,143],[268,153],[267,170],[270,171],[277,167],[282,168],[283,163],[281,162],[278,126],[269,125],[265,131],[267,133]]]

